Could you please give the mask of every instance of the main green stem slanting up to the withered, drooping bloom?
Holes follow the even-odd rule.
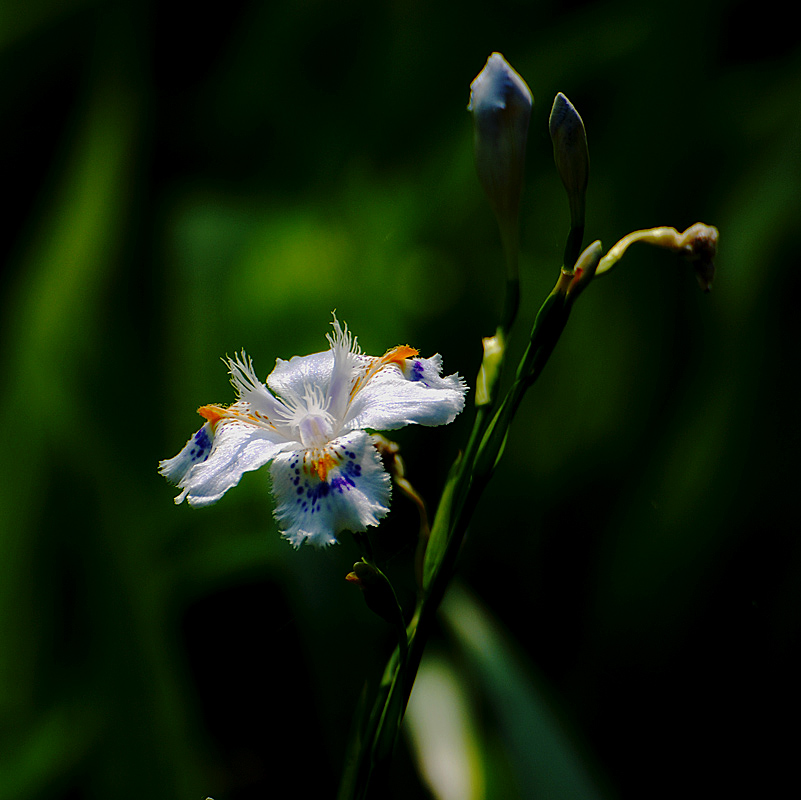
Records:
[[[575,237],[580,242],[578,233]],[[569,238],[573,238],[573,229]],[[637,231],[621,240],[607,255],[606,261],[601,259],[600,242],[594,242],[581,254],[575,269],[562,270],[556,287],[537,313],[514,382],[502,401],[499,402],[495,397],[476,409],[465,452],[451,467],[431,528],[423,589],[414,617],[404,631],[399,631],[398,646],[387,663],[367,724],[350,751],[351,758],[343,777],[340,800],[365,800],[368,792],[373,792],[374,797],[385,796],[389,762],[423,651],[453,576],[470,520],[503,455],[512,420],[526,391],[548,363],[565,329],[576,297],[593,279],[596,269],[599,274],[608,271],[634,241],[667,247],[700,262],[705,270],[701,278],[711,282],[717,230],[701,223],[684,234],[669,228]],[[600,269],[599,262],[604,270]]]

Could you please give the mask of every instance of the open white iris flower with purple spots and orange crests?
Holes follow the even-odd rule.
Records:
[[[182,490],[176,503],[216,503],[245,472],[270,464],[275,517],[295,546],[334,544],[389,511],[390,478],[370,431],[446,425],[464,408],[467,386],[441,376],[442,358],[408,345],[362,354],[334,317],[330,349],[277,359],[261,383],[245,353],[227,359],[238,400],[198,409],[206,424],[159,472]]]

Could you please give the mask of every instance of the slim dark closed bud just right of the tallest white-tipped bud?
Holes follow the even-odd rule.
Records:
[[[548,120],[553,143],[553,160],[570,204],[570,235],[565,247],[565,267],[572,268],[581,250],[587,183],[590,179],[590,151],[584,122],[573,104],[561,92],[556,95]]]

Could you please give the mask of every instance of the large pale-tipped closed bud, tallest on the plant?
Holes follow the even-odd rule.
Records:
[[[476,168],[502,229],[517,224],[532,103],[526,82],[500,53],[470,84]]]

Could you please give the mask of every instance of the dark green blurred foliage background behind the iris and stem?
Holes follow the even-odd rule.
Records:
[[[721,231],[711,295],[642,247],[582,297],[465,548],[592,775],[538,796],[797,790],[801,47],[768,9],[0,2],[2,800],[334,795],[391,648],[353,543],[293,551],[266,471],[193,511],[156,466],[231,401],[221,356],[263,378],[334,308],[368,352],[474,383],[503,286],[465,106],[493,50],[536,98],[518,348],[568,227],[557,91],[590,239]],[[470,416],[397,437],[432,504]],[[374,537],[401,586],[415,529],[397,497]],[[505,739],[531,720],[434,644],[474,691],[486,796],[531,796]],[[405,740],[395,780],[430,796]]]

